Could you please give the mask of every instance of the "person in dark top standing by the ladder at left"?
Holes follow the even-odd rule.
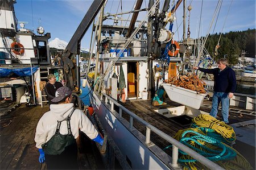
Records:
[[[49,105],[51,105],[54,103],[51,100],[55,98],[56,90],[62,87],[63,84],[61,84],[61,82],[56,82],[56,76],[54,76],[54,74],[49,74],[47,76],[47,79],[49,82],[46,84],[45,90],[47,94],[47,99],[49,101]]]

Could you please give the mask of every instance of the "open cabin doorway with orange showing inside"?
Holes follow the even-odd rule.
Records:
[[[127,97],[139,97],[139,62],[127,63]]]

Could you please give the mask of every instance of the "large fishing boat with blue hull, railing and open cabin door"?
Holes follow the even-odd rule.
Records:
[[[253,168],[251,166],[254,166],[255,161],[250,156],[246,156],[245,150],[255,151],[255,139],[245,137],[241,132],[248,130],[250,135],[255,132],[254,109],[230,107],[231,125],[223,125],[236,132],[236,144],[233,143],[234,140],[229,141],[228,144],[236,148],[232,151],[236,152],[236,158],[229,157],[229,153],[229,156],[225,155],[226,158],[218,161],[177,137],[182,130],[188,130],[187,128],[192,126],[197,118],[208,117],[210,111],[209,101],[204,100],[207,94],[200,96],[195,90],[162,83],[163,80],[177,75],[180,61],[185,59],[184,54],[189,47],[191,49],[192,45],[195,45],[195,41],[189,37],[185,38],[186,36],[183,42],[176,42],[171,31],[164,28],[164,22],[173,22],[172,14],[180,2],[173,4],[168,13],[170,1],[165,1],[163,9],[156,16],[154,9],[159,1],[150,1],[146,16],[147,27],[144,27],[143,21],[134,27],[137,13],[141,10],[141,1],[137,1],[135,9],[132,10],[130,27],[102,24],[102,20],[108,19],[108,16],[116,15],[104,16],[103,9],[101,10],[99,23],[94,26],[97,39],[92,40],[97,42],[96,69],[93,74],[88,73],[88,77],[84,80],[86,83],[83,83],[90,90],[90,100],[95,112],[92,119],[96,119],[97,125],[100,125],[105,134],[111,136],[121,151],[121,157],[125,158],[131,169],[226,169],[227,164],[232,166],[231,169]],[[189,9],[191,10],[191,7]],[[155,30],[151,27],[152,16],[159,22],[159,27]],[[152,32],[155,34],[153,35]],[[155,40],[154,43],[152,39]],[[136,48],[137,45],[139,50]],[[91,50],[93,47],[94,45]],[[160,50],[160,47],[163,47],[163,50]],[[204,56],[203,47],[201,48],[198,55]],[[167,60],[170,63],[156,57],[164,54],[159,51],[169,53]],[[195,59],[195,63],[199,63],[201,59],[201,57]],[[155,73],[158,73],[157,76]],[[164,99],[163,93],[160,94],[163,89],[166,90],[169,98]],[[156,90],[158,92],[155,92]],[[156,101],[156,105],[152,105],[152,98],[154,98],[153,102]],[[252,99],[251,104],[255,108],[255,96],[252,96]],[[244,128],[242,131],[240,131],[241,127]],[[189,141],[194,140],[189,139]],[[229,149],[228,147],[227,150]],[[243,162],[241,167],[236,163],[238,159]]]

